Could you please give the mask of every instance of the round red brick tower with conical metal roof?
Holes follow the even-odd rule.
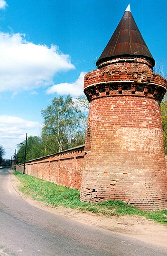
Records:
[[[166,80],[126,9],[85,75],[90,101],[81,200],[122,200],[144,210],[167,208],[160,101]]]

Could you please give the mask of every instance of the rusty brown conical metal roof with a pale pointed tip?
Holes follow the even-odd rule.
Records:
[[[118,56],[142,56],[149,59],[152,66],[155,65],[155,61],[130,12],[130,6],[124,12],[121,21],[100,58],[97,60],[96,65],[99,66],[102,62]]]

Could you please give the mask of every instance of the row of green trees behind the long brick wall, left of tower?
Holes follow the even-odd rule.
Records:
[[[41,111],[44,118],[41,136],[30,136],[27,139],[26,161],[84,144],[88,116],[86,101],[86,97],[79,97],[78,103],[70,95],[66,98],[55,97],[52,104]],[[19,163],[24,162],[25,144],[26,141],[23,141],[18,145]]]

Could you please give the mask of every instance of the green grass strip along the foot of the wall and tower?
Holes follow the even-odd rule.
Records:
[[[99,203],[80,202],[80,191],[78,189],[56,185],[19,172],[14,172],[14,174],[22,183],[22,186],[19,187],[20,191],[33,199],[47,202],[55,207],[64,206],[108,216],[138,215],[167,224],[167,210],[142,211],[122,201],[111,199]]]

